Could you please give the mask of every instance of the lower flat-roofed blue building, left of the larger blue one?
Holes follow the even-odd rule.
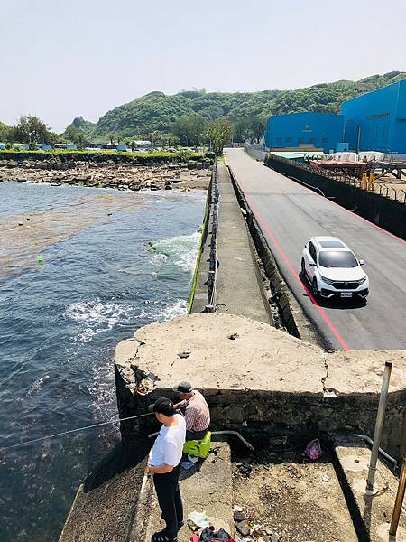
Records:
[[[268,120],[265,146],[271,150],[336,150],[343,141],[344,117],[333,113],[290,113]]]

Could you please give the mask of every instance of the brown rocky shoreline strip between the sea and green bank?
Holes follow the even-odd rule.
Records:
[[[0,182],[47,182],[53,186],[64,184],[118,190],[171,190],[183,192],[206,190],[210,182],[211,166],[207,162],[142,165],[109,160],[99,162],[61,162],[3,160],[0,162]]]

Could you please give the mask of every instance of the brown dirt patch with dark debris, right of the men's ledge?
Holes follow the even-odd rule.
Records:
[[[309,461],[306,446],[289,441],[275,437],[273,446],[258,447],[249,459],[235,457],[235,542],[355,542],[328,450],[318,461]],[[275,446],[281,449],[276,452]]]

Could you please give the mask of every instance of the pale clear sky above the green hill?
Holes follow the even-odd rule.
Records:
[[[406,70],[404,0],[0,0],[0,121],[61,132],[152,90],[296,89]]]

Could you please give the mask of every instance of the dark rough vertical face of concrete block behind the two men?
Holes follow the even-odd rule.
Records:
[[[118,382],[120,378],[116,378]],[[360,433],[372,437],[379,397],[377,394],[354,393],[342,397],[322,394],[272,390],[202,389],[212,417],[212,428],[232,429],[243,435],[333,435],[339,432]],[[120,417],[144,413],[157,397],[177,400],[171,388],[160,388],[147,396],[132,395],[117,388]],[[401,460],[404,448],[406,390],[391,393],[388,398],[383,429],[383,449]],[[123,444],[130,444],[138,431],[152,433],[159,425],[154,418],[141,418],[134,425],[122,424]]]

